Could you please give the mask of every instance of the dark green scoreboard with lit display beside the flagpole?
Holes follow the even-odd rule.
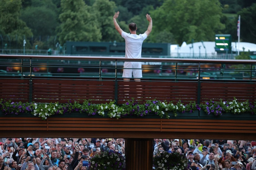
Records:
[[[217,53],[231,53],[232,38],[230,34],[215,35],[215,51]]]

